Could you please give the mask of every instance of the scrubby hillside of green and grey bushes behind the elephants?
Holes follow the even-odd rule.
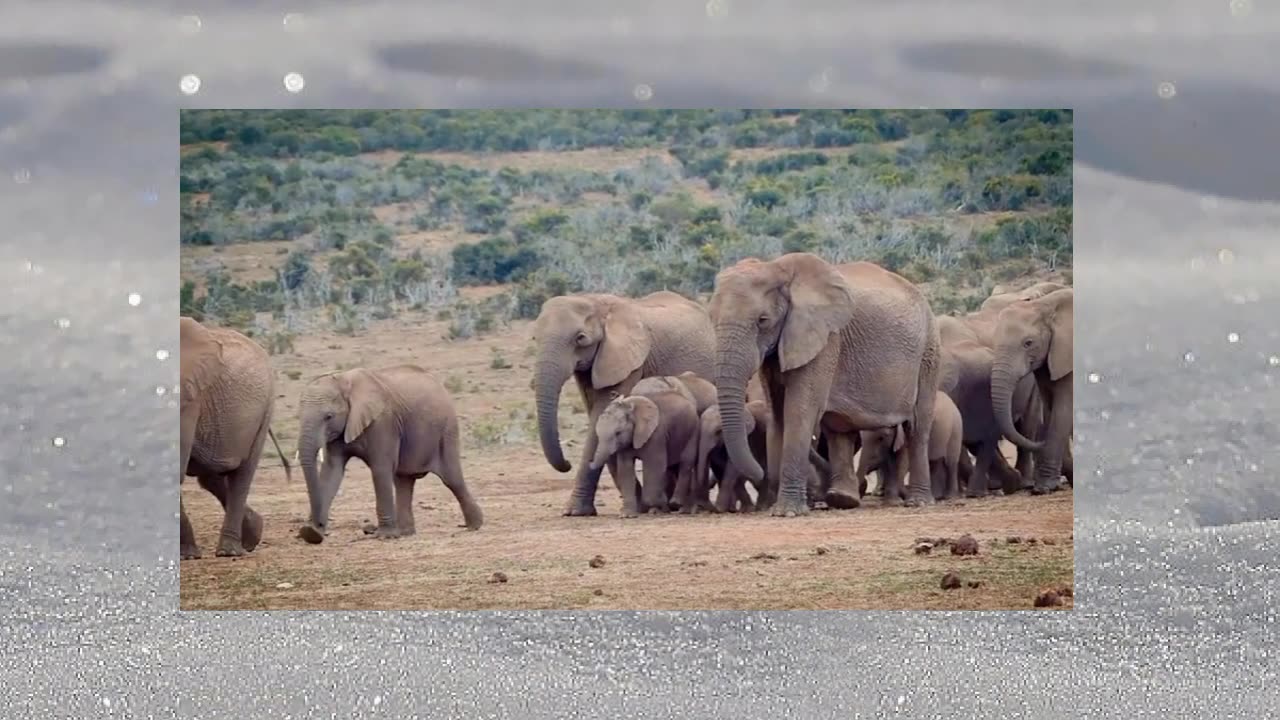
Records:
[[[1071,120],[184,110],[182,311],[271,346],[415,311],[468,337],[557,293],[705,297],[721,268],[797,250],[964,310],[996,283],[1070,277]]]

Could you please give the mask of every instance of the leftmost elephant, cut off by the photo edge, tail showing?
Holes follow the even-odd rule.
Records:
[[[179,322],[178,483],[193,477],[223,506],[216,555],[241,556],[262,539],[262,516],[248,506],[248,489],[270,437],[289,477],[289,462],[271,432],[275,373],[262,346],[227,328]],[[179,551],[201,557],[196,532],[179,498]]]

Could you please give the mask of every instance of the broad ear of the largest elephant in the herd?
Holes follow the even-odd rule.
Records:
[[[785,373],[817,357],[831,333],[849,324],[854,316],[854,293],[845,278],[817,255],[795,252],[777,261],[791,275],[783,286],[791,309],[778,340],[778,365]]]

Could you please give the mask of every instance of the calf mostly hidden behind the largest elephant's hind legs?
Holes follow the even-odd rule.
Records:
[[[902,429],[863,430],[863,454],[858,459],[858,480],[865,487],[867,474],[877,471],[881,484],[896,474],[899,486],[906,479],[906,455]],[[964,420],[960,409],[945,392],[938,392],[929,428],[929,487],[936,500],[960,496],[960,464],[964,454]],[[910,477],[911,484],[916,475]],[[923,483],[923,479],[919,480]]]

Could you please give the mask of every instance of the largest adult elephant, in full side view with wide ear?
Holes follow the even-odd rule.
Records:
[[[756,369],[769,398],[769,477],[774,515],[809,512],[810,448],[822,430],[831,451],[827,502],[856,507],[854,436],[905,423],[913,478],[929,477],[929,425],[940,340],[929,302],[914,284],[872,263],[832,265],[809,252],[742,260],[721,270],[710,301],[716,388],[730,460],[750,479],[764,470],[748,443],[746,384]],[[883,502],[901,502],[891,478]],[[911,483],[910,505],[933,502]]]

